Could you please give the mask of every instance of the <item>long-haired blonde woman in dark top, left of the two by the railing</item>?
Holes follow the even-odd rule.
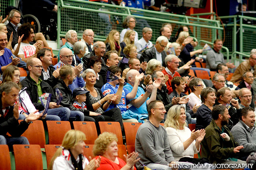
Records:
[[[113,29],[109,32],[108,37],[106,38],[106,52],[107,51],[117,51],[118,56],[120,56],[121,48],[120,48],[120,33]]]

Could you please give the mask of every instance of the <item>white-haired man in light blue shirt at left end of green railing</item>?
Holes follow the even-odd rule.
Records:
[[[68,30],[68,32],[65,35],[65,39],[67,42],[61,48],[68,48],[74,54],[73,47],[74,47],[75,42],[77,42],[77,40],[78,40],[76,31],[73,29]],[[60,48],[60,50],[61,50],[61,48]],[[59,61],[60,61],[60,51],[58,54],[58,62]]]

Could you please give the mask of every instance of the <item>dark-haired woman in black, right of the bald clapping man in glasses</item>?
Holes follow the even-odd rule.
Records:
[[[99,75],[99,72],[101,71],[101,63],[102,60],[98,56],[91,56],[88,59],[88,68],[91,68],[96,73],[96,84],[94,84],[94,87],[101,88],[104,85],[104,81],[101,75]]]

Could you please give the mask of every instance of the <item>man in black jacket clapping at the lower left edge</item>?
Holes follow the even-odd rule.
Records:
[[[8,145],[10,151],[14,144],[29,145],[27,138],[20,137],[20,135],[27,130],[30,121],[37,120],[42,116],[42,114],[35,114],[35,112],[37,112],[35,111],[30,113],[27,118],[19,124],[18,94],[19,87],[16,83],[5,82],[2,84],[0,90],[0,145]],[[12,136],[7,136],[7,132]]]

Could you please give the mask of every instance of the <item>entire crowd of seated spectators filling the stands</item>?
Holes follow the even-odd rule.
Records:
[[[138,2],[142,3],[137,0],[136,5]],[[159,8],[153,0],[145,3]],[[246,156],[255,150],[255,49],[235,68],[233,63],[225,63],[220,39],[204,59],[198,56],[202,49],[194,50],[198,42],[189,36],[188,27],[181,26],[174,40],[172,25],[163,24],[153,44],[152,29],[144,27],[138,35],[133,30],[136,19],[128,16],[123,31],[111,30],[105,42],[94,42],[92,29],[85,29],[80,41],[75,30],[67,31],[67,42],[53,66],[54,56],[44,48],[48,44],[41,34],[34,34],[34,26],[20,25],[20,12],[15,9],[8,20],[8,25],[0,25],[0,144],[7,144],[10,150],[14,144],[29,144],[20,135],[37,119],[92,121],[98,135],[98,122],[114,121],[120,123],[124,137],[123,122],[143,123],[136,135],[136,153],[128,155],[126,163],[117,157],[117,138],[109,133],[95,141],[97,158],[92,162],[84,159],[79,149],[73,149],[84,146],[85,137],[73,130],[54,156],[52,169],[64,165],[64,155],[75,158],[65,162],[72,168],[84,168],[86,165],[79,162],[83,159],[87,166],[93,164],[93,169],[136,169],[134,165],[142,169],[139,157],[151,169],[168,169],[178,161],[187,162],[200,149],[202,157],[209,159],[206,163],[228,164],[245,163]],[[195,62],[206,62],[208,69],[217,72],[212,82],[189,75],[203,69],[195,67]],[[20,77],[19,67],[27,70],[26,77]],[[227,81],[229,68],[235,71]],[[63,97],[59,105],[56,89]],[[47,114],[42,116],[45,106],[39,97],[44,93],[52,96]],[[18,119],[23,121],[18,123]],[[165,123],[164,127],[159,123]],[[191,123],[196,124],[192,132],[187,127]],[[67,145],[74,135],[78,141]],[[106,142],[104,146],[102,142]],[[188,162],[194,163],[191,159]]]

